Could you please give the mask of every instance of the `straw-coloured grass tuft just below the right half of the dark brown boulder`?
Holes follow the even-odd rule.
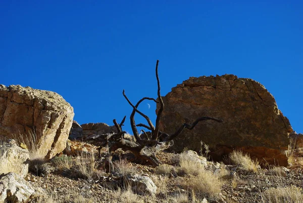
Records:
[[[229,154],[229,159],[234,165],[238,165],[240,169],[250,172],[258,172],[259,162],[252,160],[248,154],[242,151],[233,151]]]

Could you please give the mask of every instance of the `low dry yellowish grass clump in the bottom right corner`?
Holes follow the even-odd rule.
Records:
[[[301,203],[303,202],[302,189],[296,186],[267,189],[262,195],[264,203]]]

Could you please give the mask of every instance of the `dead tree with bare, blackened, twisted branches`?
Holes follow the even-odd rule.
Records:
[[[181,124],[178,130],[171,135],[165,132],[161,132],[159,130],[160,127],[159,125],[160,125],[161,114],[164,109],[164,103],[160,94],[158,64],[159,64],[159,60],[157,60],[157,64],[156,64],[156,77],[158,82],[158,100],[154,98],[144,97],[140,99],[136,103],[136,105],[133,105],[131,101],[127,98],[127,96],[125,95],[125,91],[123,90],[123,96],[125,97],[127,102],[133,107],[132,113],[130,115],[130,125],[133,132],[133,136],[135,137],[136,141],[132,142],[127,139],[124,139],[124,134],[126,132],[122,131],[122,126],[125,121],[125,117],[123,118],[120,124],[117,123],[116,119],[113,120],[118,133],[112,135],[108,139],[110,153],[114,152],[119,148],[121,148],[124,151],[131,151],[131,153],[133,153],[137,158],[141,159],[142,161],[148,161],[155,167],[161,164],[159,159],[156,157],[157,152],[172,146],[173,139],[179,136],[185,128],[188,130],[192,130],[201,120],[215,120],[217,122],[222,122],[222,120],[218,118],[203,116],[197,118],[191,125]],[[147,115],[145,115],[144,113],[138,110],[138,106],[144,100],[151,100],[160,105],[160,108],[157,113],[156,126],[154,126],[153,123],[151,123]],[[141,116],[143,116],[146,119],[148,125],[144,125],[144,124],[136,125],[134,120],[135,113],[139,113]],[[145,134],[143,138],[143,136],[140,136],[140,134],[138,133],[137,127],[146,128],[151,132],[151,136],[148,136],[145,133],[145,131],[143,131]]]

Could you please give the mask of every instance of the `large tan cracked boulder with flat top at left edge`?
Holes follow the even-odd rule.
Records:
[[[65,149],[74,112],[55,92],[0,85],[0,117],[0,135],[18,139],[34,133],[38,153],[51,158]]]

